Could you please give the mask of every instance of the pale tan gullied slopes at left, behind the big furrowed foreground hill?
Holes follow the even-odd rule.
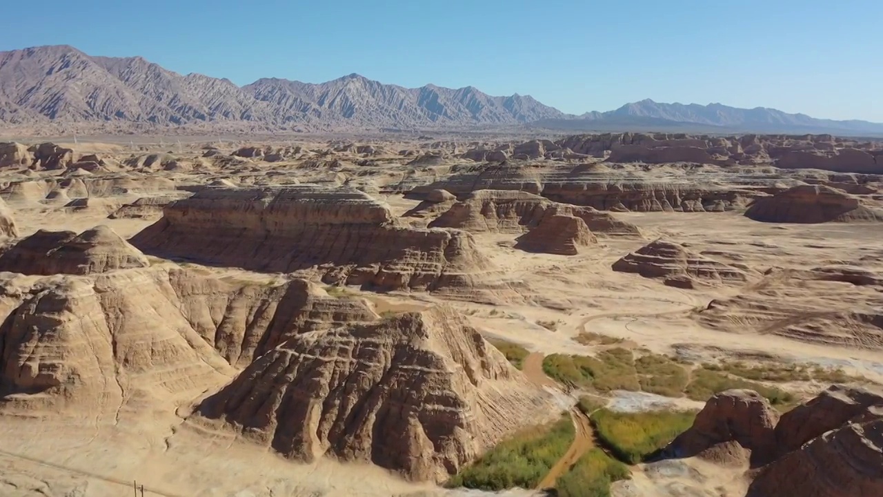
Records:
[[[376,318],[304,280],[233,284],[174,264],[2,283],[0,409],[199,394],[298,333]]]

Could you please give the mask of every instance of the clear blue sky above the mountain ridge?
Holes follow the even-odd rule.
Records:
[[[883,1],[4,2],[0,50],[70,44],[246,84],[360,73],[562,111],[774,107],[883,122]]]

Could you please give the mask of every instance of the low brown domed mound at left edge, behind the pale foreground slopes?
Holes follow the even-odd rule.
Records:
[[[103,225],[79,234],[39,230],[0,256],[0,271],[22,274],[91,274],[148,265],[140,250]]]

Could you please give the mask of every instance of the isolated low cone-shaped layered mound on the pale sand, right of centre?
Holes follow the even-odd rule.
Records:
[[[673,241],[655,240],[613,264],[614,271],[636,272],[645,278],[663,278],[671,287],[693,287],[694,279],[705,283],[742,283],[744,271],[693,253]]]

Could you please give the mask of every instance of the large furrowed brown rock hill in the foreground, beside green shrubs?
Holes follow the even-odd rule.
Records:
[[[191,422],[232,425],[298,460],[335,455],[441,480],[554,412],[457,313],[435,308],[293,337]]]

